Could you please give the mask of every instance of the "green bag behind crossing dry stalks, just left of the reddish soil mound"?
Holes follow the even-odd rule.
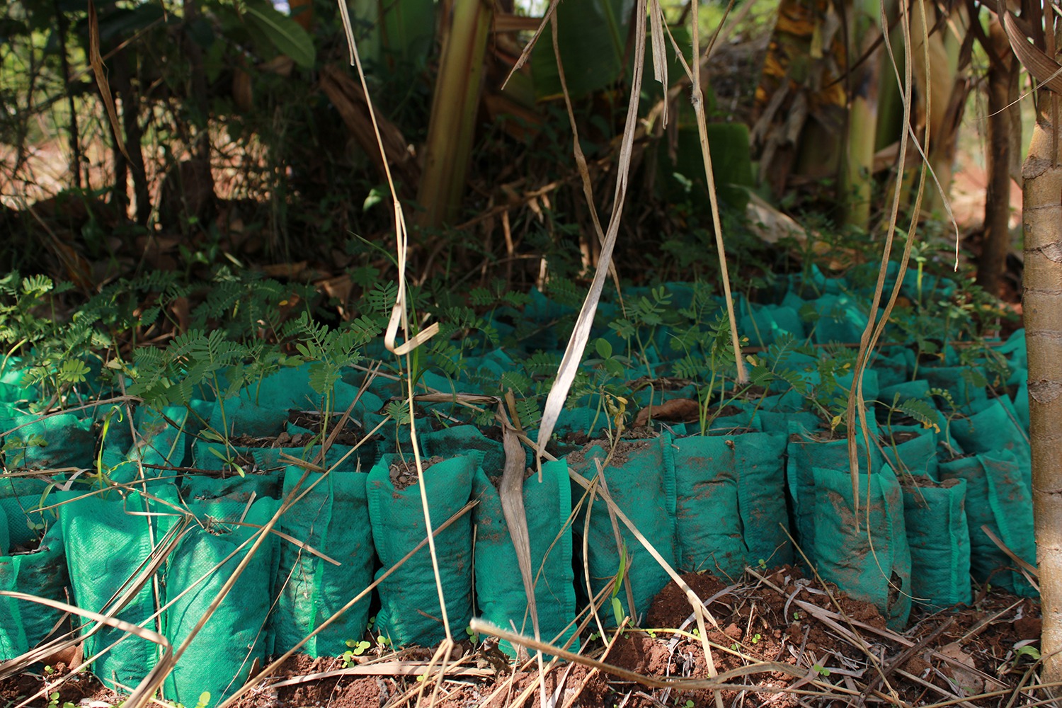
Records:
[[[674,568],[679,563],[679,543],[675,538],[674,464],[671,455],[671,435],[668,433],[653,439],[621,442],[616,454],[604,467],[604,482],[616,505],[653,545],[656,552]],[[589,481],[597,476],[595,459],[603,464],[606,456],[605,450],[595,445],[569,454],[566,459],[569,469]],[[583,495],[581,486],[573,486],[572,491],[580,497]],[[589,592],[596,595],[611,584],[613,576],[619,571],[620,556],[604,501],[595,497],[589,512],[588,506],[589,500],[583,502],[572,531],[580,537],[576,540],[576,548],[579,550],[583,547],[581,537],[585,535],[587,557],[583,562],[589,572]],[[619,523],[619,536],[631,558],[624,571],[624,580],[631,584],[634,607],[629,606],[624,588],[620,588],[616,597],[623,611],[637,623],[638,618],[646,616],[656,593],[668,584],[670,575],[622,523]],[[577,564],[577,567],[582,565]],[[585,575],[578,576],[576,583],[585,588]],[[607,610],[607,603],[601,619],[610,626],[616,624],[614,612]]]

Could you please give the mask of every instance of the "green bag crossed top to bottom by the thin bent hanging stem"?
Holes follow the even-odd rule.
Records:
[[[383,568],[390,570],[427,537],[419,483],[397,488],[392,481],[416,479],[413,461],[383,455],[369,472],[369,516],[373,541]],[[426,494],[434,529],[457,514],[472,497],[472,480],[479,466],[476,456],[462,455],[431,464],[424,470]],[[399,485],[401,486],[401,485]],[[472,619],[472,514],[465,513],[435,536],[435,553],[451,632],[463,632]],[[389,575],[379,588],[380,611],[376,626],[396,646],[430,646],[445,639],[442,608],[435,589],[428,545]]]

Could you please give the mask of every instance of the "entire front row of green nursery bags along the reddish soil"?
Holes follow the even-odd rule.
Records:
[[[271,408],[250,397],[229,401],[235,404],[225,407],[225,426],[215,422],[252,437],[298,435],[305,431],[287,421],[293,401],[282,399],[286,387],[267,392]],[[889,393],[883,390],[878,398]],[[363,396],[357,417],[365,431],[381,407],[379,398]],[[193,439],[203,420],[220,415],[219,408],[204,403],[198,416],[195,407],[193,415],[177,408],[138,412],[136,445],[131,433],[117,432],[122,427],[113,428],[97,469],[108,470],[116,482],[132,481],[134,470],[155,470],[157,479],[140,485],[139,493],[86,495],[87,487],[68,476],[63,485],[68,488],[47,498],[48,505],[63,502],[57,513],[39,512],[33,510],[41,505],[48,483],[5,478],[0,490],[7,519],[0,524],[5,526],[0,531],[0,588],[31,588],[63,600],[70,587],[76,604],[93,611],[117,602],[116,617],[160,631],[176,645],[256,545],[229,595],[167,684],[168,695],[186,705],[204,690],[218,700],[230,694],[256,659],[294,646],[350,603],[374,574],[380,581],[377,633],[399,645],[441,639],[442,608],[430,555],[422,548],[406,559],[426,532],[421,491],[411,484],[416,476],[406,467],[411,451],[393,454],[398,449],[393,427],[390,438],[387,429],[381,431],[384,441],[371,451],[347,454],[350,448],[333,446],[323,463],[339,464],[321,474],[285,465],[279,456],[282,451],[312,457],[313,448],[237,448]],[[938,426],[940,430],[924,425],[904,429],[891,420],[879,427],[871,415],[873,445],[869,454],[861,453],[858,494],[864,503],[858,525],[846,443],[821,439],[807,413],[777,412],[784,405],[761,408],[760,401],[753,407],[755,415],[717,419],[712,428],[725,434],[665,433],[623,441],[615,449],[590,445],[526,480],[544,638],[569,639],[576,589],[584,600],[600,599],[621,568],[623,583],[613,594],[635,621],[644,618],[669,575],[628,521],[672,568],[723,577],[736,577],[746,565],[791,562],[791,525],[803,554],[826,580],[875,602],[893,626],[906,622],[911,598],[930,607],[969,601],[971,573],[978,581],[1027,590],[1018,573],[998,572],[1013,564],[982,530],[1020,557],[1034,559],[1028,447],[1013,422],[1013,407],[984,398],[976,412]],[[49,418],[47,425],[57,431],[61,418]],[[578,412],[567,422],[571,429],[587,427]],[[67,424],[74,431],[70,447],[76,448],[84,420],[74,416]],[[993,435],[984,435],[986,430]],[[438,529],[450,521],[435,538],[450,625],[463,627],[478,608],[496,624],[527,631],[524,586],[514,572],[516,556],[496,488],[503,466],[501,445],[469,427],[421,439],[432,524]],[[79,467],[76,460],[64,457],[63,441],[27,446],[19,463]],[[34,454],[47,454],[47,460],[30,459]],[[168,468],[186,462],[216,472],[235,463],[242,473],[166,477]],[[587,488],[600,494],[585,495]],[[279,516],[275,533],[259,539],[256,531],[273,519],[282,499],[293,500],[292,505]],[[615,503],[612,511],[605,499]],[[469,510],[470,500],[477,503]],[[612,513],[616,510],[621,514]],[[56,516],[58,523],[53,522]],[[32,546],[45,529],[36,553],[17,552]],[[579,556],[575,564],[572,549]],[[578,582],[573,567],[580,569]],[[3,658],[37,643],[62,619],[58,612],[13,599],[0,602],[10,609],[0,619]],[[305,651],[341,653],[347,640],[362,636],[369,609],[366,595]],[[602,617],[609,622],[611,615]],[[93,669],[104,680],[129,687],[154,666],[159,651],[139,638],[116,644],[122,638],[120,631],[89,628],[85,652],[86,657],[98,655]],[[220,642],[241,651],[221,660],[211,653]],[[502,649],[514,653],[511,646]],[[196,660],[196,652],[210,660]]]

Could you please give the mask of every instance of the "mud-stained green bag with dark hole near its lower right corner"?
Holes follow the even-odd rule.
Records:
[[[819,574],[849,597],[873,603],[890,628],[903,629],[911,611],[911,551],[895,474],[883,466],[877,473],[859,476],[857,524],[847,470],[815,467],[811,471],[812,563]]]

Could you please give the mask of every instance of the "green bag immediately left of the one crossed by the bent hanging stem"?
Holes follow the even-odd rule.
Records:
[[[288,467],[284,497],[288,498],[303,476]],[[278,600],[273,627],[275,651],[287,652],[330,618],[373,582],[372,525],[369,523],[367,474],[309,472],[299,494],[314,486],[280,517],[280,531],[330,556],[335,566],[291,541],[281,540],[276,577]],[[319,481],[320,480],[320,481]],[[323,632],[303,645],[310,656],[338,656],[349,639],[359,640],[369,619],[366,595]]]

